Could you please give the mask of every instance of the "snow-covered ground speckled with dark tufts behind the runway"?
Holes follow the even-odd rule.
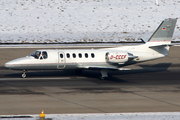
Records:
[[[0,0],[0,43],[129,42],[147,40],[180,0]]]

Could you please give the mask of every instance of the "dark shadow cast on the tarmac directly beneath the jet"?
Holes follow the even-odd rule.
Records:
[[[124,75],[124,74],[135,74],[135,73],[148,73],[148,72],[159,72],[159,71],[167,71],[170,67],[171,63],[159,63],[155,65],[139,65],[142,69],[133,69],[133,70],[126,70],[126,71],[109,71],[109,77],[106,80],[116,81],[116,82],[127,82],[122,80],[119,77],[115,77],[117,75]],[[20,78],[22,72],[19,71],[18,73],[13,74],[6,74],[5,77],[8,78]],[[58,70],[58,71],[29,71],[27,72],[27,78],[53,78],[53,77],[87,77],[93,79],[100,79],[100,72],[98,70],[84,70],[80,75],[77,75],[74,70]]]

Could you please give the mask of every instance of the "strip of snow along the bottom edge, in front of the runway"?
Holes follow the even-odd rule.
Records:
[[[24,117],[24,118],[23,118]],[[39,115],[0,116],[1,120],[41,120]],[[42,120],[179,120],[179,112],[47,114]]]

